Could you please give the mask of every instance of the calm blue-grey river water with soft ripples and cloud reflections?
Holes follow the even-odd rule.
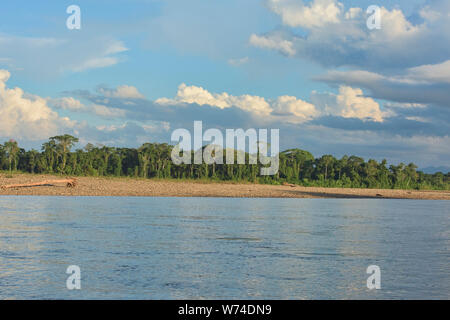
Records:
[[[450,203],[0,197],[3,299],[450,298]],[[366,268],[381,268],[368,290]],[[67,290],[69,265],[81,290]]]

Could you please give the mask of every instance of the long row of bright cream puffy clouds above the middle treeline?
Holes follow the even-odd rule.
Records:
[[[275,99],[248,94],[233,96],[226,92],[211,93],[202,87],[188,86],[183,83],[178,87],[174,98],[160,98],[155,101],[155,104],[164,106],[167,110],[173,107],[188,107],[188,105],[213,107],[220,110],[237,108],[248,113],[248,117],[257,118],[260,123],[284,121],[298,124],[324,115],[382,122],[384,117],[389,116],[387,112],[381,111],[380,105],[375,100],[365,97],[359,88],[342,86],[337,95],[313,92],[312,99],[314,100],[310,103],[294,96],[279,96]],[[101,98],[97,98],[98,100]],[[220,117],[220,113],[218,116]]]

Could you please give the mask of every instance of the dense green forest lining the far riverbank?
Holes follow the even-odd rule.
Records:
[[[277,175],[259,176],[260,164],[175,165],[171,160],[173,146],[165,143],[145,143],[138,149],[88,144],[73,151],[77,142],[70,135],[56,136],[44,143],[41,151],[26,151],[16,141],[7,141],[0,144],[0,170],[73,176],[289,182],[324,187],[450,189],[450,173],[425,174],[417,171],[413,163],[388,166],[386,160],[364,161],[357,156],[314,158],[308,151],[290,149],[280,153]]]

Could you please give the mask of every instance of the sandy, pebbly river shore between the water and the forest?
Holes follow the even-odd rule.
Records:
[[[60,176],[0,174],[0,186],[61,179]],[[450,191],[316,188],[262,184],[233,184],[132,178],[78,177],[75,188],[64,184],[0,189],[0,195],[42,196],[143,196],[143,197],[236,197],[236,198],[393,198],[450,200]]]

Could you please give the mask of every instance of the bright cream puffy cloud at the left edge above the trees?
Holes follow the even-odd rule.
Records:
[[[35,141],[73,128],[74,122],[59,117],[46,99],[7,88],[9,77],[0,70],[0,137]]]

